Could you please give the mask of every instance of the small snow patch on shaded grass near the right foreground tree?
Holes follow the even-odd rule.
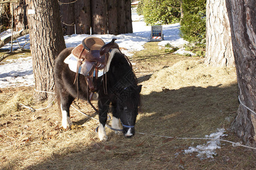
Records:
[[[220,139],[220,137],[226,136],[225,129],[217,129],[218,131],[216,133],[212,133],[210,135],[205,135],[205,138],[213,138],[213,139]],[[221,143],[220,141],[211,140],[208,141],[207,144],[204,145],[197,145],[196,147],[188,147],[188,150],[184,150],[185,154],[189,154],[192,152],[198,152],[196,155],[200,159],[211,158],[213,159],[213,156],[216,156],[215,150],[220,147]]]

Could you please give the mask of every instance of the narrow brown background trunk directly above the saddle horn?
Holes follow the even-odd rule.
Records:
[[[108,29],[109,34],[118,34],[117,0],[108,0]]]

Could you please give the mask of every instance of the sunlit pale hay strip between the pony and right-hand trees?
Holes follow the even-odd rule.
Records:
[[[205,66],[197,60],[186,60],[159,70],[143,83],[142,94],[164,89],[177,90],[182,87],[228,86],[237,82],[234,67]]]

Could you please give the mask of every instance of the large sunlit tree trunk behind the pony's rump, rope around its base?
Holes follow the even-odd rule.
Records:
[[[26,0],[30,10],[28,24],[30,27],[30,49],[32,54],[35,89],[39,91],[54,90],[53,64],[57,55],[65,48],[61,31],[59,4],[55,0]],[[57,12],[56,12],[57,11]],[[36,100],[52,100],[53,95],[35,92]]]

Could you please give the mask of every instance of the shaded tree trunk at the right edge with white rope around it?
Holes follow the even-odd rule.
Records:
[[[232,129],[246,145],[253,147],[256,146],[255,4],[256,0],[226,0],[241,99]]]

